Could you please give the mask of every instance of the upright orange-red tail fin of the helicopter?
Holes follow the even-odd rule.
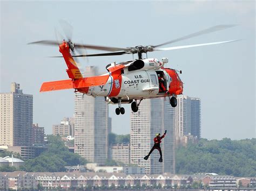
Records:
[[[73,57],[70,54],[70,48],[68,43],[64,41],[63,44],[59,45],[59,52],[62,53],[63,58],[65,59],[66,65],[69,68],[69,69],[66,69],[66,72],[68,73],[69,77],[71,79],[83,78],[83,75],[80,73],[80,70],[77,67],[76,61],[73,59]]]

